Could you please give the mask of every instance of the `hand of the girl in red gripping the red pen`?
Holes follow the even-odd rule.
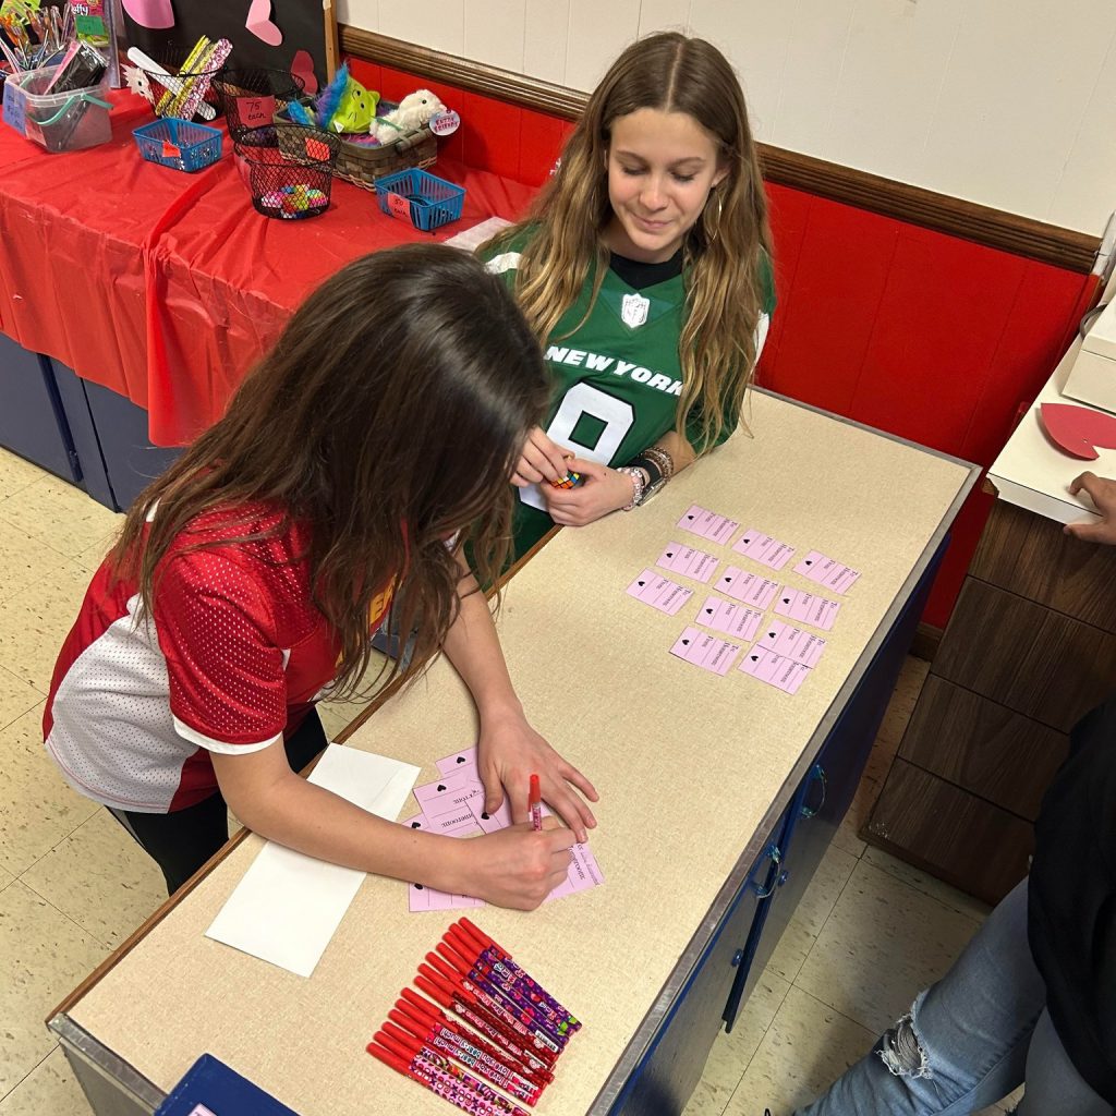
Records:
[[[541,833],[516,825],[461,841],[461,891],[497,906],[533,911],[566,878],[574,844],[569,829],[554,818],[546,822]]]

